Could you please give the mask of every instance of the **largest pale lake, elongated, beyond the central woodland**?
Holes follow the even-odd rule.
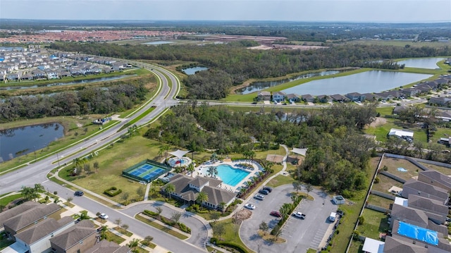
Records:
[[[392,90],[394,88],[419,82],[432,75],[402,73],[383,70],[371,70],[338,78],[326,78],[306,82],[302,85],[282,90],[286,94],[332,95],[350,92],[372,93]]]

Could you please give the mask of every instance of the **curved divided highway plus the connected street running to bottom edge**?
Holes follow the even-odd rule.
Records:
[[[137,123],[135,123],[135,125],[143,125],[145,123],[148,123],[153,118],[156,118],[156,116],[159,116],[159,114],[164,110],[166,110],[166,107],[170,107],[178,103],[178,101],[173,99],[173,97],[175,97],[175,95],[178,94],[180,90],[180,81],[177,77],[175,77],[175,75],[173,75],[173,73],[164,68],[146,63],[135,62],[135,64],[142,68],[151,70],[152,73],[154,73],[161,82],[161,90],[159,90],[158,94],[156,94],[152,101],[148,101],[146,104],[144,104],[144,106],[140,107],[140,109],[138,109],[132,116],[130,116],[128,120],[122,121],[121,123],[118,123],[111,128],[105,128],[104,131],[102,131],[98,135],[95,135],[91,138],[88,137],[85,140],[82,140],[63,151],[58,152],[58,156],[55,153],[54,155],[48,156],[47,158],[41,159],[35,163],[28,164],[27,166],[16,171],[0,175],[0,195],[7,192],[20,190],[22,186],[33,186],[35,185],[35,183],[40,183],[46,190],[49,190],[50,192],[57,191],[58,196],[60,197],[63,197],[65,199],[72,197],[72,190],[68,190],[66,187],[58,185],[47,179],[47,173],[49,173],[51,169],[56,168],[58,157],[60,164],[70,163],[75,157],[82,157],[90,154],[100,147],[104,146],[105,144],[113,142],[121,135],[127,133],[127,128],[121,131],[119,130],[128,121],[131,121],[137,116],[140,116],[150,107],[156,106],[156,108],[151,113],[141,118],[140,121],[137,121]],[[200,243],[202,240],[205,240],[205,238],[194,236],[197,237],[197,240],[193,240],[194,238],[190,238],[187,241],[179,240],[172,235],[168,235],[161,232],[160,230],[157,230],[156,228],[147,226],[146,224],[137,221],[135,218],[132,218],[132,216],[127,214],[126,211],[111,209],[111,207],[100,204],[99,202],[96,202],[87,197],[74,198],[73,203],[80,206],[82,209],[86,209],[94,214],[97,213],[97,211],[105,212],[109,214],[112,220],[121,218],[123,223],[127,223],[130,226],[129,230],[132,233],[140,235],[141,237],[152,235],[152,237],[154,237],[154,242],[157,245],[161,245],[171,252],[205,252],[205,249],[202,249],[202,243]],[[193,233],[198,233],[198,231],[196,231],[196,228],[194,228]]]

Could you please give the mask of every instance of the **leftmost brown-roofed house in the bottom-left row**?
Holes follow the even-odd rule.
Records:
[[[3,221],[6,235],[8,235],[8,237],[14,236],[25,228],[42,221],[59,209],[61,209],[61,206],[51,203],[39,204],[38,206],[34,206],[32,209],[27,209],[21,213],[16,212],[16,216]]]

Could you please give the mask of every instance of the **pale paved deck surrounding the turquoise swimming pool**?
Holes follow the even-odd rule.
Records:
[[[233,168],[237,168],[243,171],[247,171],[249,172],[249,175],[247,175],[245,178],[243,178],[241,180],[240,183],[238,183],[236,186],[232,186],[232,185],[227,185],[226,183],[222,183],[221,185],[219,185],[218,187],[223,189],[223,190],[228,190],[230,192],[240,192],[240,190],[238,188],[245,186],[245,182],[249,181],[250,178],[254,177],[257,175],[257,173],[260,172],[259,168],[257,167],[257,165],[255,165],[254,163],[249,163],[247,162],[248,166],[252,166],[252,168],[254,168],[253,171],[251,170],[245,170],[243,168],[238,168],[235,166],[236,163],[245,163],[244,161],[217,161],[216,163],[202,163],[200,166],[197,166],[196,169],[194,170],[194,172],[192,173],[193,177],[209,177],[208,175],[206,175],[206,170],[210,167],[210,166],[218,166],[221,164],[227,164],[232,166]],[[221,179],[218,177],[218,179]]]

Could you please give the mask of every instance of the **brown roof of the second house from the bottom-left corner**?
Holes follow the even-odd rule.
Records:
[[[56,221],[54,218],[47,218],[45,221],[39,222],[35,226],[16,234],[15,237],[27,245],[31,245],[50,233],[67,226],[69,223],[74,223],[73,218],[70,216],[63,217],[59,221]]]

